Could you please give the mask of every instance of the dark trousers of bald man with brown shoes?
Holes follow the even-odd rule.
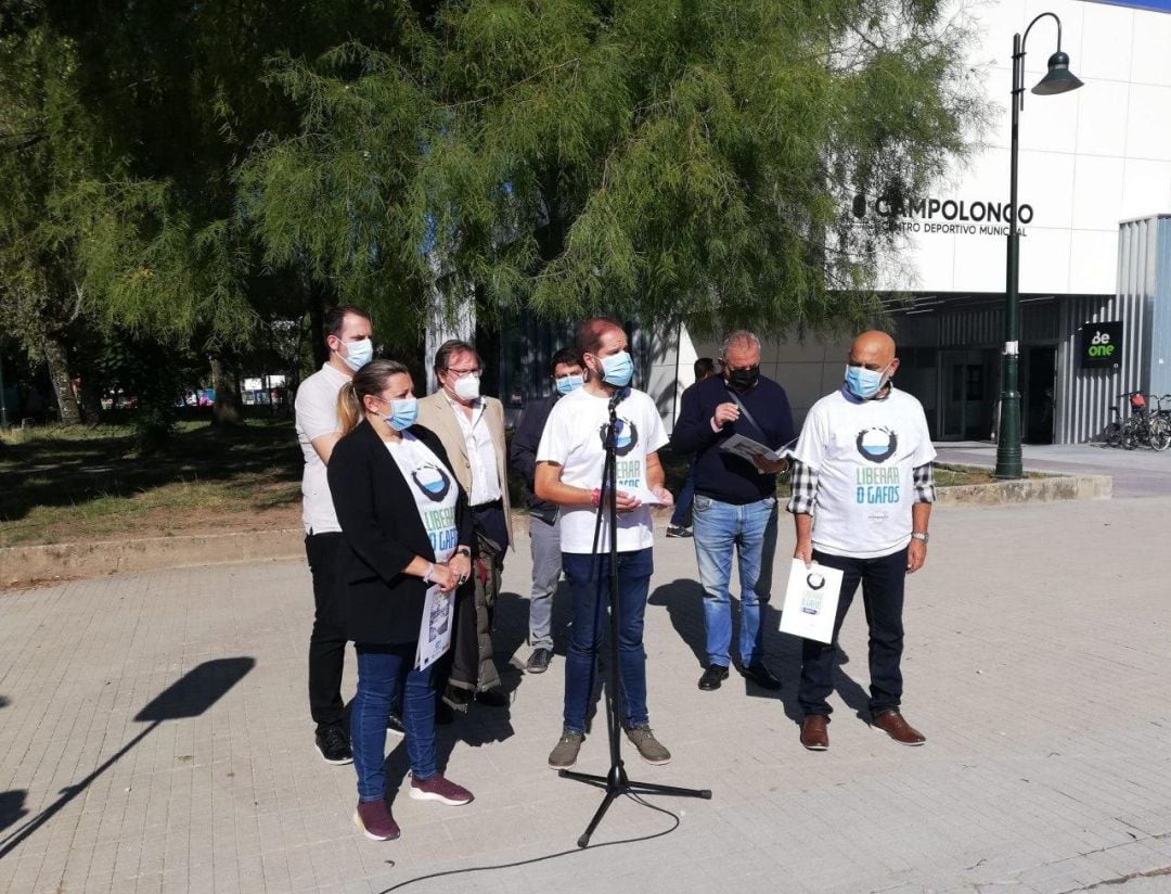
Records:
[[[834,644],[801,641],[801,688],[797,702],[807,715],[829,715],[826,701],[834,691],[834,657],[837,633],[854,594],[862,584],[862,603],[870,628],[870,714],[898,708],[903,698],[903,585],[906,581],[906,548],[877,559],[854,559],[813,551],[814,561],[842,569],[842,592],[834,619]]]

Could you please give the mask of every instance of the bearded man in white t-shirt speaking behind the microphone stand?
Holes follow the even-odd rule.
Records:
[[[665,764],[671,752],[655,738],[646,709],[643,617],[655,569],[655,535],[650,507],[639,494],[653,494],[666,506],[672,503],[663,486],[658,458],[667,437],[655,401],[630,388],[634,361],[626,334],[616,320],[595,316],[577,327],[577,353],[586,363],[586,384],[557,401],[536,450],[536,496],[561,507],[561,554],[573,593],[563,729],[549,755],[549,766],[556,770],[573,766],[586,739],[594,662],[609,602],[610,528],[603,505],[602,472],[611,408],[617,414],[616,560],[622,680],[622,691],[614,697],[621,697],[622,726],[642,758]]]

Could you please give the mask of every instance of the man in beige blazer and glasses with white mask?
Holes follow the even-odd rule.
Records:
[[[436,352],[439,390],[419,401],[418,423],[443,442],[460,486],[468,494],[475,521],[477,554],[472,580],[457,602],[451,677],[443,699],[466,711],[475,701],[494,708],[508,704],[492,658],[492,617],[500,592],[505,551],[513,541],[508,501],[505,408],[480,394],[480,355],[466,341],[452,339]]]

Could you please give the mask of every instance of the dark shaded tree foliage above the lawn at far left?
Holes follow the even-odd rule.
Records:
[[[231,367],[265,323],[328,291],[263,268],[237,169],[297,117],[265,84],[276,54],[375,39],[381,4],[315,0],[0,2],[0,313],[48,361],[62,422],[101,330]],[[121,336],[119,336],[121,337]],[[221,389],[232,396],[232,389]]]

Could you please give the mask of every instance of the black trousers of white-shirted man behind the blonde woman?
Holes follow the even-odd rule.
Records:
[[[309,712],[317,731],[329,726],[345,730],[342,701],[342,668],[345,636],[337,605],[337,565],[345,538],[341,533],[309,534],[304,554],[313,572],[313,633],[309,635]]]

